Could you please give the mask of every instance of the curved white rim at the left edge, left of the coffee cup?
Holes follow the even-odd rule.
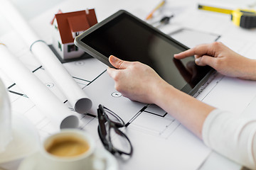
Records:
[[[39,136],[34,125],[23,115],[11,116],[13,140],[0,154],[0,164],[12,162],[38,150]]]

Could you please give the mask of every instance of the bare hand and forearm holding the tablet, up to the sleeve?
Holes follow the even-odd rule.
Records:
[[[114,79],[115,89],[124,97],[156,104],[201,137],[203,122],[213,111],[212,106],[175,89],[146,64],[126,62],[114,56],[110,56],[110,63],[117,69],[108,68],[107,72]]]

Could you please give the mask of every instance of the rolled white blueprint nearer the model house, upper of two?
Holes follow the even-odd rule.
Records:
[[[38,38],[38,35],[36,35],[9,0],[0,0],[0,2],[0,12],[4,14],[26,44],[30,46],[33,55],[37,57],[43,68],[53,78],[53,81],[68,98],[68,102],[75,108],[75,111],[78,113],[89,111],[92,108],[92,101],[85,94],[85,91],[82,91],[73,77],[70,76],[46,42]]]

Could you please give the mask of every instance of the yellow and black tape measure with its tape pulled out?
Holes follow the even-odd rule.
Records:
[[[231,21],[235,26],[240,26],[241,28],[256,28],[256,11],[253,9],[240,9],[235,10],[216,8],[213,6],[203,6],[198,5],[198,9],[213,11],[218,13],[226,13],[231,15]]]

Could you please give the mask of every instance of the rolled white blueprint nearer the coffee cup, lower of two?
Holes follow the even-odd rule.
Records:
[[[74,115],[32,72],[30,72],[6,45],[0,43],[0,67],[35,103],[57,128],[78,128]],[[15,68],[15,69],[14,69]]]

